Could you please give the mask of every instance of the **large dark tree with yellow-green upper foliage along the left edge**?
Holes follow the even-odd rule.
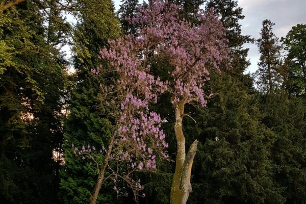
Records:
[[[1,203],[60,203],[66,64],[44,20],[31,1],[0,13]]]

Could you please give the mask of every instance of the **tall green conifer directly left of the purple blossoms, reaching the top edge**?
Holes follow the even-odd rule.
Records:
[[[112,2],[107,0],[80,0],[80,12],[75,13],[78,24],[73,35],[73,64],[75,75],[69,94],[69,116],[65,121],[65,166],[61,171],[61,197],[65,203],[89,203],[97,181],[96,167],[73,155],[74,147],[90,144],[97,148],[107,146],[111,122],[106,110],[99,107],[99,85],[104,79],[91,72],[101,61],[99,50],[107,40],[120,35],[119,21],[115,18]],[[103,158],[102,158],[103,159]],[[105,183],[97,203],[120,203],[113,200],[113,185]]]

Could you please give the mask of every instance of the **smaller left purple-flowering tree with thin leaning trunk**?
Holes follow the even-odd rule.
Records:
[[[160,115],[149,110],[149,104],[167,89],[167,82],[149,74],[149,68],[141,66],[131,36],[109,41],[110,49],[104,48],[100,57],[109,62],[108,67],[92,70],[102,71],[108,82],[101,84],[101,102],[109,109],[108,119],[113,121],[113,135],[99,171],[99,179],[91,198],[95,203],[105,170],[112,172],[113,180],[122,179],[134,191],[141,190],[139,182],[132,180],[134,171],[155,170],[156,155],[167,158],[164,148],[165,134],[160,129],[163,122]],[[116,169],[109,165],[116,163]],[[135,196],[136,198],[136,196]]]

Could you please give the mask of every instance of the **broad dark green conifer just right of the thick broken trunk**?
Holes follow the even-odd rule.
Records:
[[[218,95],[195,119],[203,131],[190,203],[284,203],[272,179],[275,134],[260,123],[256,94],[239,84],[226,74],[212,76]]]

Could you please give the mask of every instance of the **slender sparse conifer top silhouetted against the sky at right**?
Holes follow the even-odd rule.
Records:
[[[278,38],[272,31],[275,23],[266,19],[262,24],[261,38],[257,40],[259,53],[261,54],[258,62],[259,69],[254,75],[257,77],[258,88],[262,91],[271,92],[279,86],[282,80],[280,74],[282,46],[278,45]]]

